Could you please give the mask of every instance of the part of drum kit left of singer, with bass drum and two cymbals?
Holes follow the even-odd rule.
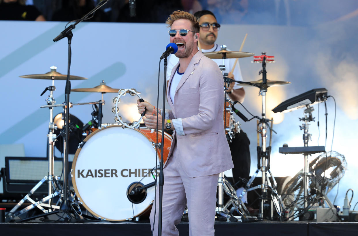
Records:
[[[51,71],[45,74],[24,75],[20,77],[32,79],[52,80],[52,85],[45,88],[41,95],[49,90],[50,95],[46,99],[47,105],[41,108],[49,108],[49,132],[48,156],[49,175],[45,176],[35,187],[9,211],[6,222],[11,220],[26,221],[40,217],[34,216],[19,219],[18,216],[34,208],[43,211],[41,216],[59,212],[63,197],[62,176],[54,176],[54,147],[63,153],[64,145],[64,115],[60,113],[53,117],[53,107],[63,107],[64,104],[55,104],[53,92],[55,80],[66,80],[67,75],[60,74],[56,67],[50,67]],[[72,76],[70,80],[85,80],[85,77]],[[171,136],[164,135],[164,144],[156,140],[156,132],[139,124],[140,120],[127,126],[135,125],[135,129],[120,125],[118,119],[115,123],[102,123],[102,105],[105,104],[103,94],[107,92],[118,93],[124,96],[129,93],[139,96],[135,89],[113,89],[104,81],[92,88],[71,89],[73,92],[100,92],[100,101],[70,103],[75,105],[92,105],[96,108],[92,112],[92,120],[83,124],[76,116],[69,114],[69,154],[74,154],[71,177],[73,190],[69,191],[69,201],[78,217],[83,216],[79,205],[90,212],[96,219],[109,221],[125,221],[137,218],[151,209],[154,201],[154,180],[158,175],[156,166],[153,168],[152,157],[155,155],[155,146],[158,144],[158,157],[160,149],[164,149],[164,161],[168,158]],[[118,98],[118,97],[117,97]],[[120,99],[118,99],[118,102]],[[114,101],[115,102],[115,101]],[[113,110],[113,109],[112,109]],[[117,118],[117,117],[116,117]],[[159,136],[161,132],[159,131]],[[138,148],[140,145],[140,149]],[[146,155],[143,156],[142,154]],[[150,155],[150,154],[153,155]],[[149,156],[149,157],[148,157]],[[134,161],[137,159],[137,161]],[[154,180],[153,180],[154,178]],[[44,183],[48,182],[48,196],[35,201],[31,195]],[[113,187],[116,186],[116,187]],[[100,201],[102,199],[103,201]],[[32,203],[22,210],[18,210],[25,202]],[[87,216],[91,219],[91,216]]]

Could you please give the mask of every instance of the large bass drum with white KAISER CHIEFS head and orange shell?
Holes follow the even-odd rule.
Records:
[[[122,129],[112,125],[83,140],[72,164],[72,184],[79,202],[98,219],[125,221],[145,214],[153,204],[155,188],[131,195],[135,187],[154,182],[156,132],[145,127]],[[161,132],[158,132],[161,140]],[[164,160],[171,136],[165,134]],[[161,145],[159,145],[161,146]],[[158,149],[160,158],[160,149]],[[153,173],[153,175],[152,175]]]

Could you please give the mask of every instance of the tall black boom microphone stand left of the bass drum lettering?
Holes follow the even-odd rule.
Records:
[[[69,214],[69,210],[71,209],[68,205],[68,200],[67,200],[67,193],[68,193],[68,139],[69,139],[69,126],[67,124],[69,124],[69,94],[71,92],[71,82],[69,81],[69,69],[71,67],[71,40],[72,40],[72,30],[76,27],[76,25],[83,21],[86,20],[87,17],[91,14],[93,14],[95,11],[97,11],[98,9],[100,9],[100,7],[102,7],[103,5],[105,5],[108,2],[108,0],[105,1],[101,1],[100,3],[98,3],[98,5],[91,10],[90,12],[88,12],[86,15],[84,15],[81,19],[77,20],[74,24],[68,26],[65,30],[63,30],[57,37],[55,37],[53,39],[54,42],[57,42],[61,39],[63,39],[64,37],[67,37],[68,39],[68,60],[67,60],[67,80],[66,80],[66,87],[65,87],[65,122],[64,124],[66,125],[66,129],[65,129],[65,138],[64,138],[64,157],[63,157],[63,173],[64,173],[64,178],[63,178],[63,201],[61,204],[61,208],[60,210],[63,212],[67,213],[67,216],[71,219],[71,215]]]

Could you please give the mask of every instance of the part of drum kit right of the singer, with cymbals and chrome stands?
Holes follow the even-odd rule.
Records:
[[[245,37],[246,39],[246,37]],[[245,42],[244,39],[244,42]],[[244,43],[243,42],[243,43]],[[243,45],[242,45],[243,46]],[[241,46],[241,49],[242,49]],[[226,70],[224,66],[224,59],[227,58],[241,58],[253,56],[253,53],[250,52],[241,52],[240,51],[227,51],[226,45],[221,46],[221,50],[217,52],[207,52],[204,53],[205,56],[211,59],[222,59],[223,65],[220,65],[219,68],[222,70],[224,77],[224,90],[226,91],[230,82],[233,80],[229,79],[228,73],[224,73]],[[277,193],[276,180],[270,171],[270,153],[271,153],[271,137],[272,137],[272,122],[273,120],[266,119],[266,92],[267,88],[271,86],[279,86],[290,84],[286,81],[270,81],[266,79],[266,63],[273,63],[274,56],[267,56],[265,52],[262,52],[261,56],[254,56],[252,62],[262,63],[262,70],[260,70],[259,75],[262,74],[262,80],[243,82],[236,81],[242,86],[256,86],[260,89],[260,95],[262,96],[262,118],[257,117],[259,121],[257,122],[257,170],[255,174],[248,180],[246,186],[242,190],[241,194],[237,196],[234,187],[229,183],[229,181],[224,176],[224,173],[219,174],[218,181],[218,200],[216,212],[217,214],[225,217],[228,221],[237,221],[236,217],[233,216],[233,211],[237,211],[241,216],[241,221],[250,221],[250,213],[242,201],[243,196],[246,192],[261,189],[261,206],[259,209],[258,217],[251,217],[253,221],[259,219],[273,219],[274,211],[277,212],[278,219],[283,220],[284,212],[281,196]],[[226,93],[226,92],[225,92]],[[224,126],[227,135],[228,142],[230,142],[234,135],[240,132],[240,123],[235,122],[233,114],[233,103],[225,94],[225,105],[224,105]],[[246,117],[245,117],[246,118]],[[245,120],[247,121],[247,120]],[[271,122],[271,126],[268,125],[268,122]],[[270,144],[267,145],[267,128],[270,129]],[[261,145],[259,135],[261,133]],[[256,178],[258,172],[262,173],[262,183],[261,185],[252,187],[253,180]],[[270,180],[271,179],[271,180]],[[268,194],[268,190],[270,194]],[[229,200],[224,205],[224,192],[229,196]],[[251,221],[252,221],[251,220]]]

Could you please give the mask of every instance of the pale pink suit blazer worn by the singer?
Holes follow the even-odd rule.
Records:
[[[169,86],[179,62],[171,71]],[[198,51],[169,97],[170,119],[182,118],[185,135],[174,130],[169,157],[176,142],[180,162],[189,177],[218,174],[233,168],[224,130],[223,76],[218,65]]]

